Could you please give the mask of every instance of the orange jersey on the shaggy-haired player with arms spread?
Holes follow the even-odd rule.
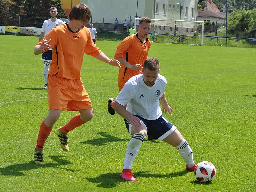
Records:
[[[48,74],[61,78],[79,79],[84,53],[95,57],[101,52],[94,45],[87,27],[74,33],[67,24],[56,26],[37,45],[41,45],[45,39],[52,40],[49,43],[52,62]]]

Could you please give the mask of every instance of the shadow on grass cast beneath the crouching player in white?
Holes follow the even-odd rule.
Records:
[[[149,173],[149,171],[139,171],[134,173],[134,177],[145,177],[145,178],[165,178],[165,177],[177,177],[177,176],[182,176],[187,174],[188,171],[180,171],[180,172],[175,172],[175,173],[170,173],[170,174],[154,174],[154,173]],[[103,188],[113,188],[116,187],[118,183],[123,183],[123,182],[132,182],[132,181],[125,181],[120,178],[120,173],[106,173],[106,174],[101,174],[98,177],[95,178],[85,178],[86,180],[92,182],[92,183],[99,183],[97,187],[103,187]]]

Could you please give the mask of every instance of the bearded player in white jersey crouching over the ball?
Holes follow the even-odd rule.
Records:
[[[125,83],[114,104],[115,111],[124,117],[125,126],[132,135],[124,157],[124,168],[120,174],[124,180],[137,181],[133,177],[131,167],[147,134],[176,147],[186,163],[186,170],[194,171],[196,166],[187,141],[162,115],[167,112],[172,115],[173,110],[165,98],[167,81],[159,74],[159,70],[159,61],[155,57],[147,58],[142,74],[133,76]]]

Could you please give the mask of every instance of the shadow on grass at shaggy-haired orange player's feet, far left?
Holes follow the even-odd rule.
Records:
[[[54,167],[54,168],[64,169],[66,171],[72,171],[72,172],[75,171],[72,169],[66,169],[66,168],[59,167],[59,165],[72,165],[73,164],[65,159],[61,159],[61,157],[64,157],[64,156],[51,155],[48,157],[52,158],[57,163],[46,163],[45,165],[38,165],[38,164],[35,164],[34,161],[30,161],[28,163],[15,164],[15,165],[10,165],[5,168],[0,168],[0,173],[2,173],[2,175],[24,176],[25,174],[22,171],[28,171],[28,170],[32,170],[32,169],[41,169],[41,168],[46,168],[46,167]]]

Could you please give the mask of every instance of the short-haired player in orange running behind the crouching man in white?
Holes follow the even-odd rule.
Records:
[[[147,36],[151,29],[151,19],[142,17],[138,26],[138,33],[126,37],[117,47],[114,58],[119,60],[121,67],[118,73],[119,91],[123,88],[126,81],[131,77],[141,74],[143,63],[148,57],[148,51],[151,46]],[[113,109],[113,98],[108,99],[108,112],[115,114]]]

